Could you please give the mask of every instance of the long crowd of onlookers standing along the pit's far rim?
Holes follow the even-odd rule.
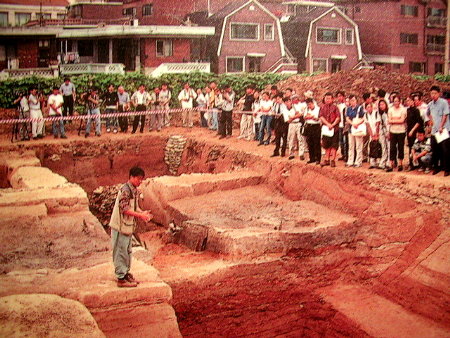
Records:
[[[231,86],[219,88],[211,82],[206,88],[193,89],[185,83],[176,97],[182,110],[182,125],[192,128],[193,112],[200,112],[201,127],[216,131],[219,138],[230,138],[233,129],[233,113],[240,114],[239,139],[254,140],[259,146],[274,144],[272,156],[286,156],[290,160],[297,154],[301,161],[321,166],[336,166],[337,160],[345,161],[347,167],[361,167],[369,162],[369,169],[394,169],[430,172],[443,170],[450,174],[449,103],[441,98],[437,86],[430,88],[431,101],[423,101],[423,93],[414,92],[407,98],[399,93],[365,93],[361,98],[346,95],[343,91],[328,92],[316,101],[314,93],[300,95],[291,88],[279,91],[277,86],[260,91],[253,86],[237,98]],[[100,95],[92,88],[81,95],[88,119],[85,137],[90,136],[91,124],[95,123],[95,135],[101,135],[100,107],[104,113],[141,112],[151,110],[149,131],[161,131],[170,126],[169,109],[174,99],[167,84],[147,91],[140,85],[132,94],[123,86],[109,85]],[[43,106],[49,116],[70,116],[74,112],[76,88],[70,79],[64,79],[60,87],[54,87],[48,99],[36,88],[29,95],[17,100],[22,117],[32,117],[31,137],[42,138],[44,123],[40,121]],[[144,132],[147,115],[132,117],[131,133]],[[70,122],[70,121],[69,121]],[[126,133],[128,116],[106,118],[106,132]],[[52,133],[55,138],[66,138],[63,121],[54,121]],[[22,139],[28,137],[28,132]],[[405,167],[405,142],[408,146],[408,167]],[[322,152],[323,149],[323,152]],[[340,157],[337,157],[337,154]],[[306,158],[308,153],[308,158]]]

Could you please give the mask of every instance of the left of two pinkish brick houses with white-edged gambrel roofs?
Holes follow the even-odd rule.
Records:
[[[279,19],[256,0],[232,2],[205,24],[216,28],[207,50],[217,73],[265,72],[286,57]]]

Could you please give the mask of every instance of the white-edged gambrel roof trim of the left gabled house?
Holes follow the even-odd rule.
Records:
[[[219,46],[217,48],[217,56],[220,56],[220,53],[222,51],[223,39],[224,39],[224,36],[225,36],[225,27],[227,25],[228,19],[230,17],[232,17],[234,14],[236,14],[237,12],[239,12],[240,10],[242,10],[243,8],[245,8],[248,5],[250,5],[251,3],[255,4],[256,6],[258,6],[263,12],[268,14],[276,22],[277,29],[278,29],[278,40],[280,42],[281,55],[285,56],[286,52],[285,52],[285,49],[284,49],[284,42],[283,42],[283,35],[282,35],[282,32],[281,32],[280,20],[278,20],[278,18],[273,13],[271,13],[266,7],[264,7],[257,0],[237,0],[237,1],[234,1],[234,2],[232,2],[230,4],[228,4],[227,6],[225,6],[224,8],[222,8],[219,12],[217,12],[216,14],[214,14],[214,15],[212,15],[210,17],[211,21],[215,21],[215,22],[222,21],[222,31],[220,33]]]

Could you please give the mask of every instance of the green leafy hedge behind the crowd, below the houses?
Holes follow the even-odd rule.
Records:
[[[85,74],[72,76],[71,81],[77,88],[77,93],[81,94],[90,87],[97,87],[100,92],[106,91],[109,84],[116,87],[122,85],[130,94],[133,93],[140,84],[145,84],[147,90],[151,90],[162,83],[167,83],[172,89],[173,95],[178,95],[185,82],[189,82],[192,88],[204,88],[211,81],[223,86],[229,84],[238,96],[243,95],[247,85],[255,85],[257,88],[264,88],[268,84],[276,84],[286,79],[287,75],[282,74],[242,74],[242,75],[216,75],[212,73],[188,73],[188,74],[166,74],[160,78],[145,76],[141,73],[119,74]],[[27,77],[18,80],[6,80],[0,82],[0,107],[12,107],[14,99],[18,93],[27,92],[29,88],[36,87],[46,95],[51,93],[54,86],[60,86],[63,78],[39,78]],[[173,103],[176,103],[175,101]]]

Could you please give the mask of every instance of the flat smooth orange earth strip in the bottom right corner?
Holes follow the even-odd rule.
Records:
[[[448,337],[450,330],[357,285],[320,291],[325,301],[373,337]]]

